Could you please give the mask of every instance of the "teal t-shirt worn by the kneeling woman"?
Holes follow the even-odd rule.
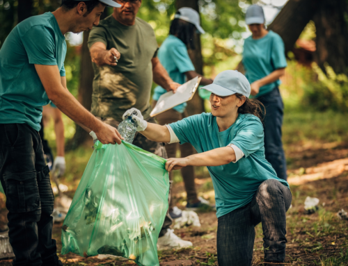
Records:
[[[231,143],[243,151],[245,156],[237,163],[207,167],[214,185],[217,217],[248,204],[267,179],[276,179],[289,187],[264,158],[264,131],[258,117],[239,114],[235,123],[222,132],[211,113],[193,115],[169,125],[180,144],[189,142],[198,153]]]

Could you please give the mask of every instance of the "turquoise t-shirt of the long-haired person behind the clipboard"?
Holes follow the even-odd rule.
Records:
[[[179,38],[174,35],[169,35],[166,40],[159,47],[157,53],[159,62],[164,66],[169,76],[173,81],[184,84],[186,82],[185,72],[195,71],[192,61],[187,52],[187,47]],[[155,93],[152,96],[152,99],[158,101],[161,94],[166,93],[167,91],[161,86],[155,88]],[[177,110],[179,113],[184,113],[184,110],[187,106],[187,103],[179,104],[173,109]]]

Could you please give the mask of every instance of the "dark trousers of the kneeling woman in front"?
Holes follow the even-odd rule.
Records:
[[[255,226],[262,223],[264,260],[285,260],[286,211],[290,189],[275,179],[264,181],[251,203],[219,217],[217,253],[219,266],[250,266],[253,260]]]

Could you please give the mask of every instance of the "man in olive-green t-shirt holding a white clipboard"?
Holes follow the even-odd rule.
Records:
[[[113,8],[113,14],[93,28],[88,39],[95,72],[91,113],[117,128],[123,113],[134,107],[141,110],[148,122],[155,123],[155,119],[150,117],[152,81],[173,92],[180,84],[173,81],[157,58],[158,44],[152,27],[136,17],[141,0],[116,2],[121,8]],[[162,143],[148,140],[139,133],[136,133],[133,144],[167,158]],[[172,223],[167,213],[159,232],[157,249],[192,246],[191,242],[173,233]]]

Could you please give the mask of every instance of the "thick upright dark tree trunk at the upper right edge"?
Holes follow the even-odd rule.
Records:
[[[346,0],[322,0],[313,19],[317,38],[315,59],[326,73],[328,63],[336,73],[348,74],[348,24]]]

